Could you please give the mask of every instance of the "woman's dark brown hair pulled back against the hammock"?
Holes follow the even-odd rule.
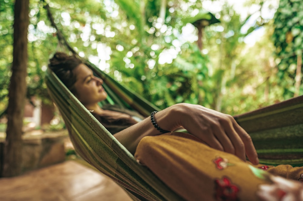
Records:
[[[76,94],[74,84],[77,78],[74,74],[74,69],[83,63],[76,56],[69,56],[63,52],[56,52],[49,60],[48,67],[58,76],[58,78],[65,84],[65,86],[73,93]]]

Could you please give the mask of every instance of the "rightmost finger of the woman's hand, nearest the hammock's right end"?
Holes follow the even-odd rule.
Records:
[[[252,164],[259,164],[258,154],[250,135],[248,135],[248,133],[241,126],[239,126],[237,122],[234,122],[233,126],[235,131],[239,134],[241,141],[244,143],[245,152],[248,159]]]

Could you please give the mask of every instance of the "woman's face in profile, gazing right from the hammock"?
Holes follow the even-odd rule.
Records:
[[[105,100],[107,93],[102,87],[103,80],[95,77],[85,64],[79,64],[74,70],[76,76],[76,97],[84,106],[96,104]]]

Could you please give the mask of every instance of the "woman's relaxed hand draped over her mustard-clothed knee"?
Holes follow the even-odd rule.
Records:
[[[258,154],[248,133],[231,115],[226,115],[201,105],[181,103],[174,106],[177,125],[200,138],[210,147],[234,154],[253,164],[258,164]]]

